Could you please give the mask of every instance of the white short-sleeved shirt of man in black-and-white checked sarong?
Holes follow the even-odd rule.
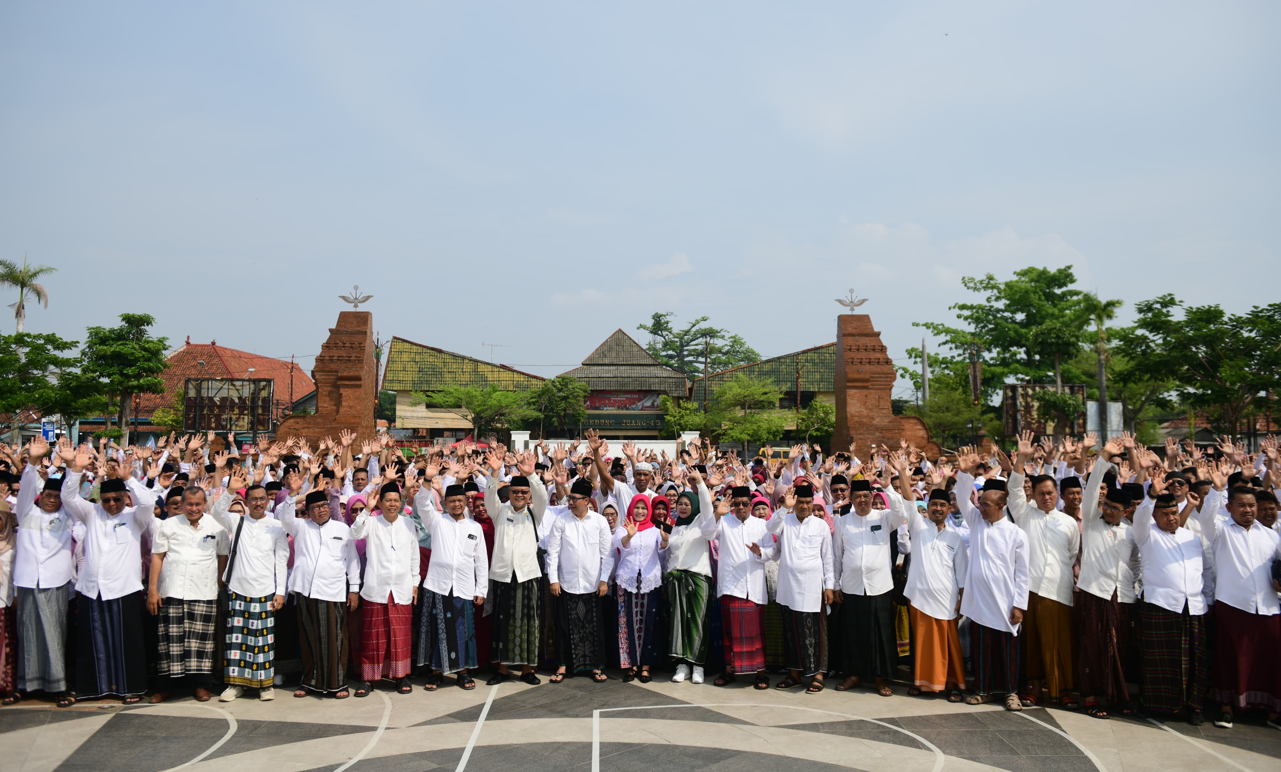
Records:
[[[156,583],[160,597],[215,600],[218,556],[229,551],[227,529],[213,517],[201,517],[195,527],[181,515],[163,521],[151,539],[151,554],[164,554]]]

